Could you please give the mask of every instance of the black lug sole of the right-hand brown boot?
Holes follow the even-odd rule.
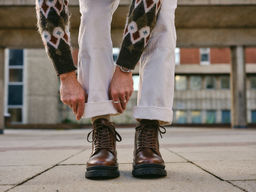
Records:
[[[160,164],[141,164],[132,165],[132,175],[133,176],[166,176],[167,172],[164,169],[164,165]]]

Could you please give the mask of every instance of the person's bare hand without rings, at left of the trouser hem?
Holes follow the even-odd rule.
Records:
[[[76,120],[81,119],[87,98],[84,88],[77,81],[75,71],[60,74],[60,100],[72,108]]]

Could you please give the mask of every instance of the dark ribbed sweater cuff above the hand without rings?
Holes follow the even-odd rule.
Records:
[[[54,57],[52,57],[52,62],[57,76],[77,69],[74,64],[71,51],[62,52],[61,55],[54,54]]]

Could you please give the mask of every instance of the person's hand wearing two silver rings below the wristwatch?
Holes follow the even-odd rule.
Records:
[[[126,109],[126,103],[129,101],[133,92],[133,79],[132,72],[125,73],[116,66],[115,73],[112,77],[109,86],[109,97],[113,101],[119,101],[114,103],[118,113],[123,113]],[[125,101],[125,102],[124,102]]]

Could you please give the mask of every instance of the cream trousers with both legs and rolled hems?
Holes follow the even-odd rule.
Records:
[[[79,0],[78,81],[88,94],[83,118],[118,115],[109,100],[108,88],[114,74],[110,24],[119,0]],[[162,0],[162,8],[148,45],[140,59],[138,103],[135,120],[172,123],[176,32],[174,12],[177,0]]]

